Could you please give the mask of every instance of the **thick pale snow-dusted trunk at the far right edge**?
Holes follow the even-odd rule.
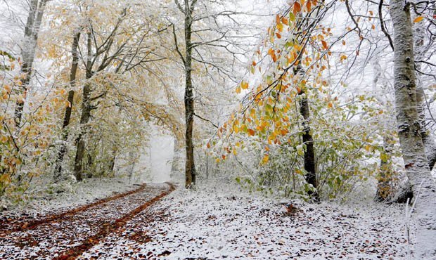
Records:
[[[436,184],[425,156],[418,117],[410,4],[391,0],[390,15],[394,26],[397,129],[406,174],[417,200],[416,257],[433,259],[436,257]]]

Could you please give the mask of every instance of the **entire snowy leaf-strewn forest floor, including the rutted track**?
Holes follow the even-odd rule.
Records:
[[[278,202],[219,185],[173,189],[146,184],[46,215],[4,217],[0,259],[408,257],[403,206]]]

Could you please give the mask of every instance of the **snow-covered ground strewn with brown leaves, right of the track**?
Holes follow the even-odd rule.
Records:
[[[212,184],[179,188],[82,259],[407,258],[402,206],[278,202]]]

